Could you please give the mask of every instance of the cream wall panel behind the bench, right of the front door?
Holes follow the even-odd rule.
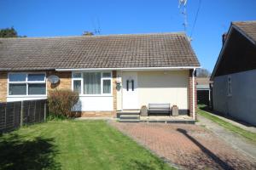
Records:
[[[138,71],[139,105],[170,103],[189,109],[189,71]]]

